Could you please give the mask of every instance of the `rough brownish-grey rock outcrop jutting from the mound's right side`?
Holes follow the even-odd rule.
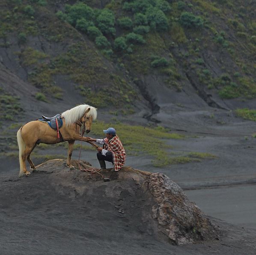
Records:
[[[158,221],[158,230],[175,244],[195,243],[218,238],[219,230],[166,175],[153,173],[149,190],[155,205],[152,217]]]

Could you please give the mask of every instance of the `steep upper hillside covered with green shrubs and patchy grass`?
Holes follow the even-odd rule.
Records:
[[[0,3],[0,47],[20,48],[18,64],[45,95],[61,98],[56,76],[68,75],[86,102],[126,107],[136,99],[134,77],[155,74],[181,91],[187,74],[199,91],[212,90],[224,99],[256,97],[252,2],[68,3]],[[108,103],[102,102],[103,95]]]

